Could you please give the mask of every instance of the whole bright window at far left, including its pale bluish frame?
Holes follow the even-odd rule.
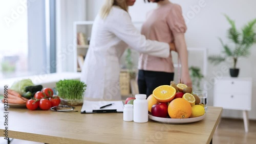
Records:
[[[1,1],[0,16],[0,79],[54,73],[55,1]]]

